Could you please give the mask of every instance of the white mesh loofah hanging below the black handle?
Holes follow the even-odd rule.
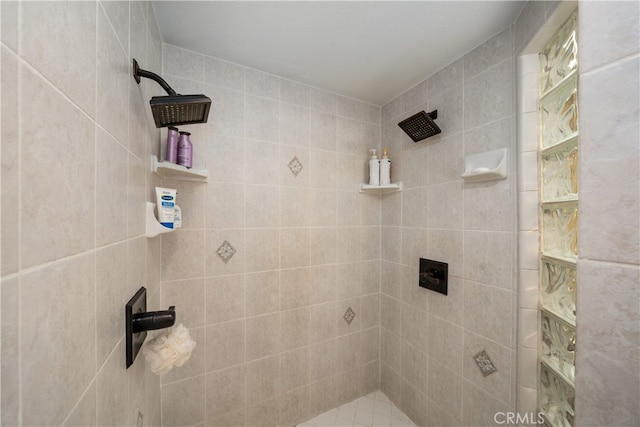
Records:
[[[151,372],[164,375],[174,366],[182,366],[189,360],[196,342],[182,323],[148,341],[142,348]]]

